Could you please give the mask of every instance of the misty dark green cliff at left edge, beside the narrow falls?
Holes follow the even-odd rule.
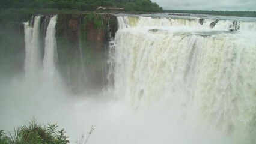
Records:
[[[26,18],[15,16],[15,20],[0,20],[0,79],[24,73]]]

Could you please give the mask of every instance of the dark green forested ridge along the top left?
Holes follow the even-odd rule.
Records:
[[[162,11],[162,8],[151,0],[1,0],[0,9],[53,8],[58,10],[94,11],[97,6],[122,7],[125,11]]]

